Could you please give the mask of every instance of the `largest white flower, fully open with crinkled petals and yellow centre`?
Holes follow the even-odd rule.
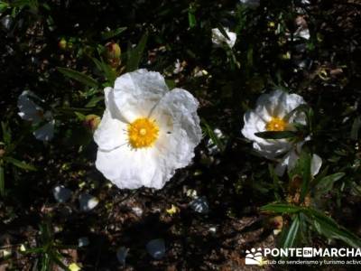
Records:
[[[97,169],[119,188],[161,189],[190,164],[199,145],[199,102],[169,91],[159,72],[135,70],[105,89],[106,110],[94,133]]]

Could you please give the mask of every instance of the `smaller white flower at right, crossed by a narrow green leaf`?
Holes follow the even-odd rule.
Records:
[[[265,131],[294,131],[294,124],[306,124],[304,113],[290,114],[293,109],[306,104],[303,98],[297,94],[288,94],[282,90],[274,90],[270,94],[261,95],[256,102],[254,110],[245,112],[245,126],[242,134],[253,141],[255,151],[272,160],[281,157],[275,172],[282,175],[285,169],[292,169],[296,164],[301,146],[307,140],[294,143],[288,139],[264,139],[255,133]],[[282,156],[283,155],[283,156]],[[313,174],[319,172],[322,160],[317,154],[312,157]]]

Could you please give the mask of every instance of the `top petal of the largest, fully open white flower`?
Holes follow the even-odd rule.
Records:
[[[168,90],[159,72],[135,70],[116,79],[115,88],[106,93],[106,101],[116,106],[125,122],[131,123],[147,117]]]

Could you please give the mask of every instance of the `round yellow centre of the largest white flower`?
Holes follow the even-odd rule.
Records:
[[[158,138],[159,126],[155,120],[148,117],[140,117],[128,125],[128,141],[134,148],[146,148],[152,146]]]

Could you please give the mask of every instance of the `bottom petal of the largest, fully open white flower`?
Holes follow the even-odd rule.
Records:
[[[122,145],[110,152],[97,151],[97,169],[120,189],[154,187],[153,178],[158,165],[154,148],[132,149]]]

